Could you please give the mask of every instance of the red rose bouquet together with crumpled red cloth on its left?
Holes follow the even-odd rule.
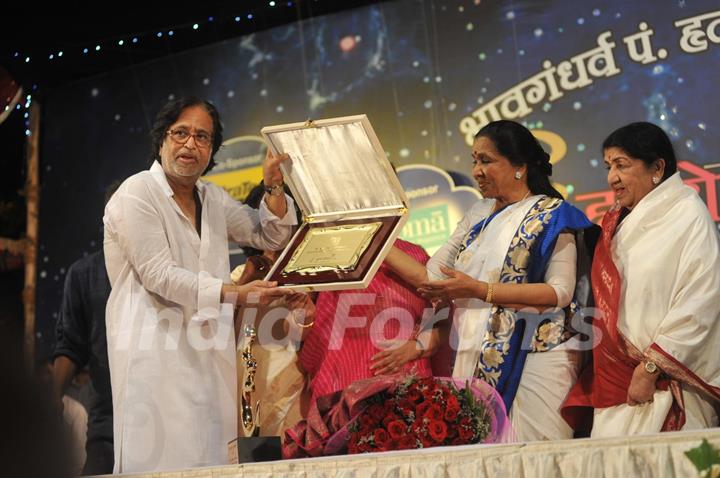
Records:
[[[378,375],[320,397],[285,430],[284,458],[513,440],[505,404],[480,379]]]

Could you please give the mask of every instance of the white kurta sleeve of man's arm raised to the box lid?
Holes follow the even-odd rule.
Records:
[[[295,202],[290,196],[285,195],[287,213],[279,218],[270,212],[264,199],[260,201],[260,208],[256,210],[234,200],[224,191],[222,194],[230,239],[240,245],[252,246],[263,251],[277,251],[288,243],[292,235],[292,227],[297,224]]]

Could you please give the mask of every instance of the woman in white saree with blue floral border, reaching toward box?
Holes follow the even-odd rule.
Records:
[[[519,123],[483,127],[472,156],[483,199],[427,268],[397,250],[386,262],[426,297],[454,303],[453,376],[494,386],[518,440],[572,438],[560,406],[582,362],[569,323],[576,288],[589,293],[576,287],[576,264],[592,223],[553,188],[548,154]]]

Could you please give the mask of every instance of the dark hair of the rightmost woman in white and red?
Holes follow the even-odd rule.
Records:
[[[677,171],[677,158],[670,138],[656,124],[638,121],[618,128],[603,141],[603,151],[608,148],[620,148],[647,167],[658,159],[665,160],[663,181]]]

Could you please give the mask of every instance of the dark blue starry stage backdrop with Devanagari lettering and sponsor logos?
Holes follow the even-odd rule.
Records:
[[[411,197],[403,236],[432,251],[477,197],[474,133],[500,118],[533,130],[593,221],[612,202],[602,140],[657,123],[720,221],[719,70],[717,0],[403,0],[66,86],[43,116],[38,349],[53,345],[67,268],[102,247],[105,188],[148,167],[152,118],[170,98],[218,106],[226,146],[209,179],[238,199],[261,177],[263,126],[367,114]]]

